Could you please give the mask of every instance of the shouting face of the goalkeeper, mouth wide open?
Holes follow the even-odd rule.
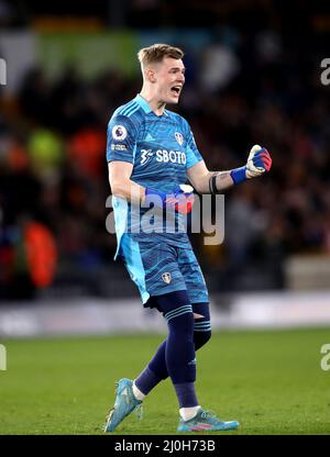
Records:
[[[160,64],[156,64],[154,75],[160,101],[177,103],[185,83],[183,60],[164,57]]]

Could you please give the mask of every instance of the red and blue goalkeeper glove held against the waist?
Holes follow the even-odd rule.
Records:
[[[145,200],[147,201],[147,198],[152,196],[160,197],[163,210],[170,208],[180,214],[191,212],[194,204],[194,189],[191,186],[179,185],[170,193],[164,193],[155,189],[145,189]]]

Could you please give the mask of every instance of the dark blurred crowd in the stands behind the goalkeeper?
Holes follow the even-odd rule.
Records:
[[[267,177],[227,193],[224,244],[204,246],[194,235],[197,256],[219,288],[220,277],[248,267],[271,269],[273,286],[283,287],[287,256],[330,253],[330,99],[319,62],[312,47],[284,42],[271,26],[219,27],[202,53],[185,52],[175,110],[208,168],[244,165],[255,143],[273,156]],[[1,299],[32,296],[58,271],[79,270],[81,279],[116,269],[116,238],[106,231],[106,132],[113,110],[140,87],[140,78],[116,70],[86,81],[70,67],[54,81],[32,68],[18,96],[1,99]]]

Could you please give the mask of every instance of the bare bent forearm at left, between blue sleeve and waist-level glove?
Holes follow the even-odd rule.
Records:
[[[128,161],[110,161],[108,164],[111,192],[128,201],[139,203],[144,199],[145,189],[131,180],[133,164]]]

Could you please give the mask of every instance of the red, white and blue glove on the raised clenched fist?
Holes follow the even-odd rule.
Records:
[[[241,168],[234,168],[231,170],[230,176],[234,183],[239,185],[246,179],[256,178],[257,176],[270,171],[272,161],[268,151],[256,144],[250,151],[246,165]]]

